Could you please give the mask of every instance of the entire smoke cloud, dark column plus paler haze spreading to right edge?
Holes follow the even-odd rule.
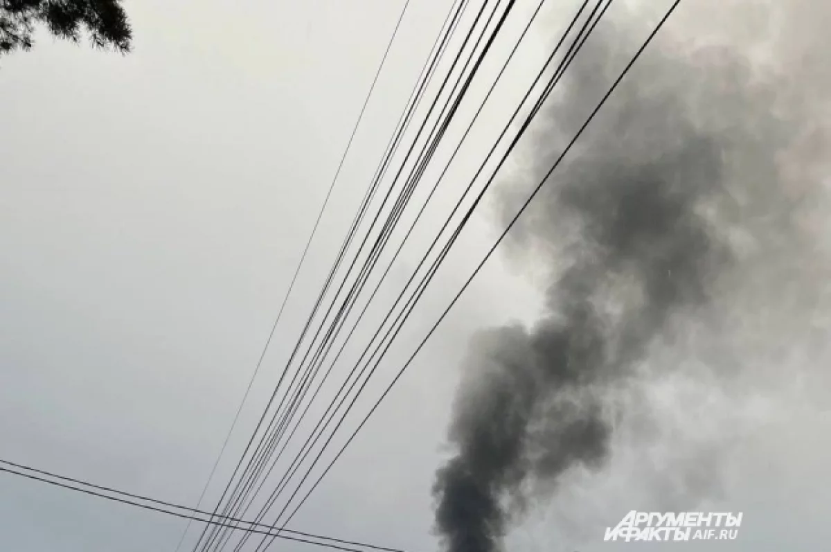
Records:
[[[770,9],[780,22],[801,21]],[[766,43],[761,13],[739,46]],[[733,7],[730,16],[747,13]],[[640,17],[598,27],[540,116],[530,174],[548,169],[645,31]],[[735,417],[753,410],[750,395],[782,381],[784,362],[772,355],[824,354],[827,95],[784,80],[770,52],[760,65],[735,42],[701,42],[668,33],[647,51],[510,236],[512,262],[544,267],[545,314],[471,344],[449,431],[455,455],[434,488],[449,552],[501,550],[530,500],[602,472],[622,439],[644,450],[680,440],[664,466],[644,468],[651,505],[689,509],[717,495],[735,435],[708,424],[696,396],[697,407],[682,398],[676,407],[698,408],[695,431],[712,431],[701,438],[674,426],[668,437],[656,386],[668,375],[690,379],[707,396],[730,396]],[[786,56],[798,53],[783,50],[779,61]],[[531,184],[504,188],[503,224]]]

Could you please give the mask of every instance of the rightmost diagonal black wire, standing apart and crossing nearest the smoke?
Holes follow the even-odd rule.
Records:
[[[411,357],[409,357],[409,358],[408,358],[408,360],[407,360],[407,362],[404,364],[404,366],[403,366],[403,367],[401,367],[401,370],[400,370],[400,371],[396,374],[396,377],[392,380],[392,382],[391,382],[391,383],[390,383],[390,384],[386,387],[386,390],[383,392],[383,394],[381,395],[381,397],[380,397],[380,398],[376,401],[375,405],[371,408],[370,412],[368,412],[368,413],[366,414],[366,416],[364,417],[364,419],[363,419],[363,420],[361,421],[361,423],[357,426],[356,430],[352,432],[352,435],[349,437],[349,439],[347,440],[347,442],[346,442],[346,443],[342,446],[341,450],[340,450],[340,451],[338,451],[337,455],[334,457],[334,459],[332,459],[332,461],[331,461],[331,462],[329,463],[329,465],[327,466],[326,470],[325,470],[325,471],[323,471],[322,475],[321,475],[321,476],[319,476],[319,477],[317,478],[317,481],[315,482],[315,484],[314,484],[314,485],[312,485],[312,488],[311,488],[310,490],[308,490],[308,491],[307,491],[307,494],[303,497],[303,500],[300,502],[300,504],[299,504],[299,505],[297,505],[297,508],[295,508],[295,509],[293,510],[292,515],[290,515],[290,516],[288,517],[288,519],[286,520],[286,522],[284,522],[284,524],[283,524],[283,525],[287,524],[287,523],[288,523],[288,521],[292,520],[293,516],[294,516],[295,514],[297,514],[297,510],[299,510],[299,509],[300,509],[300,507],[301,507],[301,506],[305,503],[305,501],[307,500],[307,498],[309,497],[309,495],[311,495],[311,494],[312,494],[312,491],[313,491],[313,490],[315,490],[315,489],[317,488],[317,485],[319,485],[319,484],[320,484],[320,482],[322,481],[323,477],[325,477],[325,476],[327,475],[328,471],[329,471],[329,470],[331,470],[331,468],[332,468],[332,466],[335,464],[335,462],[336,462],[336,461],[337,461],[337,460],[338,460],[338,459],[342,456],[343,452],[344,452],[344,451],[346,451],[347,447],[348,447],[348,446],[352,443],[352,441],[354,440],[354,438],[355,438],[355,436],[357,435],[357,433],[358,433],[359,431],[361,431],[361,428],[362,428],[362,427],[366,424],[366,421],[367,421],[367,420],[369,420],[370,416],[371,416],[374,412],[376,412],[377,407],[378,407],[378,406],[380,406],[381,402],[382,402],[382,401],[386,398],[386,396],[389,394],[389,392],[391,391],[392,387],[394,387],[394,386],[395,386],[395,384],[396,384],[396,382],[398,382],[398,380],[401,378],[401,375],[402,375],[402,374],[406,371],[406,368],[407,368],[407,367],[409,367],[409,366],[411,365],[411,362],[412,362],[412,361],[413,361],[413,359],[416,357],[416,355],[420,352],[420,350],[424,347],[424,345],[425,345],[425,343],[427,342],[427,340],[428,340],[428,339],[430,339],[430,337],[433,335],[433,333],[435,333],[435,329],[439,327],[440,323],[441,323],[441,322],[445,319],[445,317],[447,316],[447,314],[448,314],[448,313],[450,313],[450,309],[451,309],[451,308],[453,308],[453,306],[455,305],[455,303],[456,303],[456,302],[458,301],[458,299],[461,297],[462,293],[464,293],[464,292],[465,292],[465,290],[468,288],[468,286],[469,286],[469,285],[470,285],[470,283],[473,281],[473,279],[475,278],[475,276],[476,276],[477,274],[479,274],[479,271],[482,269],[482,267],[484,266],[484,264],[488,261],[488,259],[490,258],[490,256],[494,253],[494,251],[495,251],[495,250],[496,250],[496,248],[499,246],[499,244],[501,244],[501,242],[504,240],[504,237],[508,234],[509,230],[510,230],[511,228],[513,228],[514,224],[516,224],[516,221],[519,219],[519,216],[520,216],[521,214],[523,214],[523,213],[524,213],[525,209],[527,209],[527,208],[528,208],[528,205],[530,204],[530,202],[531,202],[532,200],[534,200],[534,197],[536,197],[536,195],[538,194],[539,190],[541,190],[541,189],[542,189],[542,187],[543,187],[543,185],[545,184],[545,182],[546,182],[546,181],[548,180],[548,178],[549,178],[549,177],[553,174],[553,171],[554,171],[554,170],[556,170],[556,168],[557,168],[557,167],[558,167],[558,165],[562,162],[562,160],[563,160],[563,158],[565,157],[565,155],[567,155],[567,154],[568,154],[568,151],[569,151],[569,150],[571,150],[571,148],[572,148],[572,147],[573,147],[573,145],[576,143],[576,141],[578,140],[578,138],[579,138],[579,137],[583,134],[583,131],[585,131],[585,129],[588,127],[588,125],[591,123],[591,121],[593,121],[593,118],[597,115],[597,112],[598,112],[598,111],[600,111],[600,109],[602,108],[602,106],[606,103],[606,101],[608,100],[609,96],[612,96],[612,92],[613,92],[613,91],[615,91],[615,90],[617,89],[617,86],[620,84],[620,82],[623,80],[623,78],[627,75],[628,71],[632,68],[632,66],[633,66],[633,65],[634,65],[634,63],[637,61],[637,59],[638,59],[638,58],[642,55],[642,52],[643,52],[643,51],[647,48],[647,46],[648,46],[648,45],[652,42],[652,39],[656,36],[657,32],[661,29],[661,27],[663,27],[663,25],[666,23],[667,19],[669,19],[669,17],[671,16],[672,12],[674,12],[674,11],[675,11],[676,7],[678,6],[678,4],[679,4],[680,2],[681,2],[681,0],[675,0],[675,2],[673,2],[673,3],[672,3],[671,7],[670,7],[670,8],[669,8],[669,10],[666,12],[666,14],[664,15],[664,17],[662,17],[662,18],[661,18],[661,21],[660,21],[660,22],[658,22],[658,24],[656,25],[656,27],[653,29],[652,33],[650,33],[649,37],[647,37],[647,40],[646,40],[645,42],[643,42],[642,46],[641,46],[641,47],[637,50],[637,52],[635,53],[635,55],[632,57],[632,60],[631,60],[630,62],[628,62],[628,63],[627,63],[627,66],[623,69],[623,71],[621,72],[620,76],[618,76],[618,77],[617,77],[617,80],[616,80],[616,81],[614,81],[614,83],[612,84],[612,86],[608,89],[607,93],[606,93],[606,94],[602,97],[601,101],[597,104],[597,106],[596,106],[596,107],[595,107],[595,109],[592,111],[592,113],[590,114],[590,116],[588,116],[588,119],[587,119],[587,120],[583,123],[583,126],[581,126],[581,127],[580,127],[580,129],[578,130],[577,134],[573,137],[573,139],[572,139],[572,140],[568,143],[568,145],[564,148],[563,153],[562,153],[561,155],[559,155],[558,160],[556,160],[556,161],[554,162],[554,164],[553,164],[553,166],[551,167],[551,169],[550,169],[550,170],[548,170],[548,173],[546,173],[546,175],[543,177],[543,179],[542,179],[542,180],[540,180],[539,184],[536,186],[536,188],[534,189],[534,191],[532,192],[532,194],[529,196],[528,200],[526,200],[526,201],[525,201],[524,205],[523,205],[523,206],[519,209],[519,212],[518,212],[518,213],[514,216],[514,219],[512,219],[512,220],[511,220],[511,222],[509,223],[508,227],[507,227],[506,229],[504,229],[504,232],[503,232],[503,233],[499,236],[499,239],[496,241],[496,243],[493,245],[493,247],[491,247],[491,249],[489,249],[488,254],[486,254],[486,255],[484,256],[484,259],[482,259],[482,261],[479,263],[479,265],[477,266],[477,268],[475,269],[475,271],[473,272],[473,274],[471,274],[471,275],[470,275],[470,278],[468,278],[468,280],[465,282],[465,285],[464,285],[464,286],[462,286],[462,288],[460,289],[460,291],[459,291],[459,292],[455,295],[455,298],[454,298],[454,299],[450,302],[450,305],[449,305],[447,308],[445,308],[445,311],[441,314],[440,318],[439,318],[439,319],[435,322],[435,324],[433,325],[433,327],[432,327],[432,328],[430,328],[430,332],[429,332],[429,333],[427,333],[427,335],[425,336],[425,338],[424,338],[424,339],[420,342],[419,346],[418,346],[418,347],[416,347],[416,351],[415,351],[415,352],[413,352],[413,353],[411,354]],[[481,196],[480,196],[480,197],[481,197]],[[448,248],[448,249],[446,249],[446,250],[447,250],[447,251],[449,251],[449,248]],[[273,537],[272,537],[272,542],[273,542]],[[269,545],[270,545],[270,543],[269,543]]]

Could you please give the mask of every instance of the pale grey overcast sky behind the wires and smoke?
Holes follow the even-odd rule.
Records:
[[[428,211],[417,245],[435,231],[533,78],[565,14],[578,5],[548,3],[564,5],[543,12],[519,51],[506,86],[450,170],[445,195]],[[643,9],[640,3],[618,2],[612,14],[616,25],[637,37],[628,44],[645,37],[655,14],[668,5],[643,2]],[[754,68],[748,81],[776,83],[772,110],[799,111],[784,117],[817,123],[809,138],[782,150],[791,155],[783,161],[792,169],[788,174],[809,182],[810,193],[818,195],[827,184],[819,159],[831,143],[820,124],[829,121],[829,75],[827,64],[806,52],[818,51],[829,10],[814,13],[807,0],[779,7],[725,3],[723,17],[713,22],[720,2],[681,2],[658,47],[700,41],[746,55]],[[492,78],[535,4],[519,0],[484,76]],[[402,5],[126,2],[135,32],[135,51],[126,57],[42,35],[32,52],[0,60],[0,458],[195,505]],[[209,506],[277,381],[449,8],[446,0],[411,1]],[[652,71],[641,76],[655,76]],[[671,80],[664,75],[656,86]],[[488,84],[483,78],[473,97]],[[463,121],[475,105],[463,108]],[[450,138],[455,136],[459,127],[451,129]],[[447,149],[437,154],[425,181],[431,183],[436,167],[444,166]],[[534,148],[520,154],[501,184],[524,194]],[[737,174],[750,178],[752,171]],[[814,205],[820,215],[828,213],[823,200]],[[480,210],[367,387],[359,411],[366,412],[501,229],[504,220],[493,201]],[[705,398],[659,388],[687,389],[674,380],[658,378],[645,387],[676,406],[691,401],[676,426],[661,426],[671,432],[659,443],[665,448],[706,448],[715,442],[712,435],[719,442],[733,438],[725,437],[733,435],[725,425],[738,427],[740,446],[718,456],[711,472],[721,480],[718,489],[684,505],[745,511],[740,539],[717,550],[820,550],[825,544],[831,446],[824,360],[831,356],[816,343],[829,343],[831,303],[823,286],[831,249],[827,218],[820,215],[814,213],[814,249],[805,257],[813,259],[811,272],[794,286],[816,291],[824,302],[806,304],[809,295],[799,290],[779,293],[787,274],[774,274],[773,264],[735,274],[760,282],[725,308],[735,314],[727,321],[735,330],[730,338],[743,340],[736,350],[754,350],[758,357],[745,362],[764,364],[759,387],[748,382],[753,378],[745,369],[733,381],[735,393],[720,387],[720,380],[696,380]],[[420,251],[406,250],[379,298],[381,307],[395,297]],[[519,247],[514,253],[487,265],[292,528],[410,552],[435,550],[430,488],[447,453],[446,427],[468,341],[479,329],[530,323],[542,309],[540,280],[550,267],[535,264]],[[793,266],[804,259],[779,261]],[[765,307],[777,293],[779,300],[771,298]],[[379,313],[382,308],[371,318]],[[775,322],[753,325],[763,318]],[[799,340],[804,328],[815,333],[814,341]],[[687,348],[698,351],[707,343],[701,338]],[[675,362],[685,351],[666,354]],[[792,379],[799,386],[783,390],[782,382]],[[743,386],[753,392],[742,393]],[[761,397],[761,414],[750,395]],[[675,412],[666,409],[653,415]],[[356,417],[351,420],[350,432]],[[692,426],[706,427],[706,438],[696,433],[687,439]],[[639,550],[601,542],[605,525],[628,510],[656,505],[639,494],[649,485],[633,475],[644,456],[627,450],[616,449],[602,473],[577,475],[570,486],[535,500],[511,536],[512,550]],[[664,458],[656,454],[650,458]],[[183,529],[182,520],[0,475],[0,535],[8,550],[172,552]],[[187,542],[195,534],[192,529]],[[712,543],[699,546],[715,550]]]

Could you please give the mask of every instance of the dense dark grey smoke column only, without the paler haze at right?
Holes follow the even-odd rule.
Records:
[[[634,49],[622,42],[607,29],[578,57],[543,114],[538,173],[631,55],[618,53]],[[790,139],[789,126],[766,111],[770,91],[750,92],[740,55],[696,59],[658,50],[639,62],[512,236],[524,254],[514,260],[552,267],[546,314],[474,344],[450,426],[455,456],[434,488],[436,529],[450,552],[500,550],[539,482],[556,487],[571,470],[604,466],[618,414],[604,390],[631,377],[657,340],[671,341],[676,318],[703,313],[736,262],[727,228],[744,205],[731,187],[735,164],[765,175],[755,193],[770,200],[778,168],[769,154]],[[528,194],[512,190],[505,219],[518,205],[510,194]],[[775,202],[779,213],[791,207],[781,194]]]

